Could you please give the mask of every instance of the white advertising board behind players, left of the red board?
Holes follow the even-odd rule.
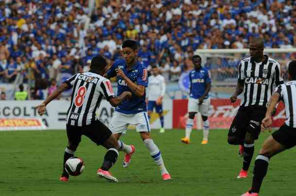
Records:
[[[35,106],[41,103],[35,101],[0,101],[0,119],[9,118],[41,118],[48,129],[66,129],[67,110],[70,101],[54,100],[47,107],[43,116],[39,116]],[[172,107],[171,99],[164,100],[163,111],[165,128],[172,128]],[[107,126],[112,118],[114,107],[106,100],[103,100],[97,111],[97,117]],[[160,121],[157,114],[153,113],[151,117],[151,128],[160,128]]]

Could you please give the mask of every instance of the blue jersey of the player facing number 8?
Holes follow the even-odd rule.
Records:
[[[123,73],[135,84],[142,85],[144,87],[148,86],[148,72],[147,69],[138,61],[132,67],[131,70],[127,70],[126,62],[123,59],[115,60],[108,70],[108,77],[116,76],[115,69],[122,69]],[[121,95],[123,91],[130,91],[132,93],[132,98],[130,100],[122,101],[122,103],[115,108],[115,111],[121,112],[123,114],[137,114],[139,112],[147,111],[146,108],[146,92],[142,97],[136,96],[133,91],[127,86],[125,80],[122,77],[117,76],[118,90],[117,96]]]

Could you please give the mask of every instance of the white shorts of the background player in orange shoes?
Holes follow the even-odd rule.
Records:
[[[204,99],[202,105],[198,105],[198,99],[189,98],[188,112],[200,112],[202,116],[209,116],[210,99]]]

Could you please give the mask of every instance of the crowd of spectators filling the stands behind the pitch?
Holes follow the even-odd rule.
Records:
[[[95,55],[121,58],[127,38],[138,41],[139,61],[158,65],[167,81],[193,68],[196,49],[246,48],[252,37],[266,48],[296,47],[294,0],[1,0],[0,24],[0,82],[19,73],[18,83],[35,91],[87,71]],[[218,80],[236,77],[238,60],[205,67]]]

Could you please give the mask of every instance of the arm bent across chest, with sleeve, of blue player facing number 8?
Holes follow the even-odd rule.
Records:
[[[122,77],[125,80],[128,88],[132,90],[132,92],[137,97],[142,97],[145,94],[145,87],[148,86],[148,73],[147,69],[143,69],[140,71],[140,75],[137,78],[137,84],[135,84],[132,80],[130,80],[121,69],[116,69],[116,73],[118,76]]]

